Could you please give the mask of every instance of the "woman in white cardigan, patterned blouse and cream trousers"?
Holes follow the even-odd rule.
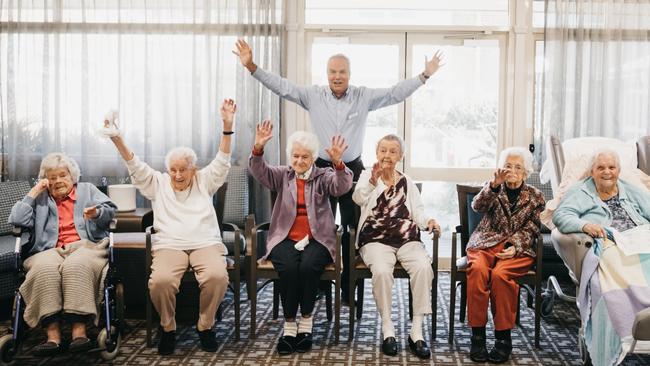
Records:
[[[386,135],[377,143],[377,162],[359,177],[352,199],[361,207],[357,248],[372,272],[372,293],[382,321],[382,351],[398,352],[390,318],[393,268],[399,260],[411,278],[413,324],[408,343],[419,358],[431,357],[422,336],[425,314],[431,313],[431,258],[420,241],[420,230],[440,233],[436,220],[426,216],[420,192],[413,180],[395,169],[402,160],[404,143]]]

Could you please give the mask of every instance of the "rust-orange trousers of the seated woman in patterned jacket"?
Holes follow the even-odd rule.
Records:
[[[471,327],[487,324],[488,300],[495,330],[512,329],[517,317],[519,285],[535,262],[528,256],[499,259],[505,243],[487,249],[467,250],[467,320]]]

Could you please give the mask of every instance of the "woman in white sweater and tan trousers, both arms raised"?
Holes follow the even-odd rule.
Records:
[[[176,294],[188,265],[201,290],[196,330],[201,349],[215,352],[219,345],[212,327],[217,307],[228,286],[227,253],[214,211],[212,196],[226,181],[230,169],[230,141],[233,133],[235,102],[221,105],[223,136],[217,156],[206,167],[196,166],[196,154],[188,147],[177,147],[165,157],[167,172],[153,170],[140,161],[119,134],[111,137],[126,161],[133,184],[151,200],[154,213],[149,294],[160,315],[162,335],[158,353],[174,352],[176,344]],[[109,128],[110,121],[105,121]]]

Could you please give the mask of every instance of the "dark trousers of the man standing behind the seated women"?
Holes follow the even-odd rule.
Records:
[[[316,166],[319,168],[332,167],[332,162],[321,158],[316,159]],[[356,183],[359,180],[359,175],[365,169],[361,157],[358,157],[350,162],[345,162],[345,165],[352,170],[352,180]],[[350,278],[350,234],[348,231],[349,226],[357,224],[357,219],[354,216],[354,206],[356,203],[352,200],[352,190],[340,197],[330,197],[330,206],[332,206],[332,214],[336,217],[336,207],[338,203],[339,211],[341,213],[341,225],[343,226],[343,236],[341,237],[341,252],[343,254],[343,273],[341,273],[341,292],[348,293],[348,282]],[[355,227],[356,229],[356,227]],[[347,299],[347,297],[344,297]]]

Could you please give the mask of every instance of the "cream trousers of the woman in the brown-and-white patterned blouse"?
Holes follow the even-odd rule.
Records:
[[[359,249],[361,258],[372,272],[372,294],[382,319],[390,319],[393,269],[399,261],[411,277],[413,315],[431,314],[431,259],[419,241],[408,242],[399,249],[381,243],[368,243]]]

